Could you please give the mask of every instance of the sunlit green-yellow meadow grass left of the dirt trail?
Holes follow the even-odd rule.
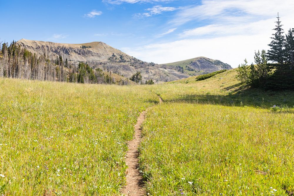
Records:
[[[0,79],[0,89],[4,195],[118,194],[126,141],[158,102],[143,86]]]

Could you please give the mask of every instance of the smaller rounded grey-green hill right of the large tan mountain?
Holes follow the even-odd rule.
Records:
[[[174,63],[165,63],[162,65],[165,65],[168,68],[175,68],[178,71],[189,74],[191,76],[211,73],[223,69],[232,69],[232,67],[227,63],[206,57],[196,57]]]

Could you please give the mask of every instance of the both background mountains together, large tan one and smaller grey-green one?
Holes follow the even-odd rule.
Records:
[[[49,59],[56,59],[60,55],[63,59],[87,62],[92,68],[101,68],[103,71],[111,71],[128,78],[139,71],[143,82],[150,79],[156,83],[175,81],[231,68],[221,61],[205,57],[161,65],[148,63],[103,42],[69,44],[21,39],[17,44],[38,56],[45,54]]]

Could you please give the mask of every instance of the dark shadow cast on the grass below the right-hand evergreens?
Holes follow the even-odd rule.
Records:
[[[225,106],[251,106],[267,109],[273,107],[273,105],[279,105],[282,108],[294,107],[294,91],[265,91],[260,88],[243,88],[240,84],[224,88],[224,90],[230,91],[230,93],[228,95],[211,95],[210,93],[206,93],[205,95],[186,94],[164,101]],[[286,111],[284,110],[283,112]],[[293,113],[290,109],[289,112]]]

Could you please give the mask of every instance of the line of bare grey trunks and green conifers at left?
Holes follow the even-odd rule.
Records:
[[[117,67],[114,70],[119,72]],[[36,53],[21,48],[15,41],[10,44],[0,42],[0,77],[72,83],[115,83],[111,75],[105,75],[100,68],[93,69],[85,62],[64,61],[62,56],[57,56],[56,59],[50,59],[45,54],[37,56]],[[128,84],[128,81],[121,80],[121,84]]]

